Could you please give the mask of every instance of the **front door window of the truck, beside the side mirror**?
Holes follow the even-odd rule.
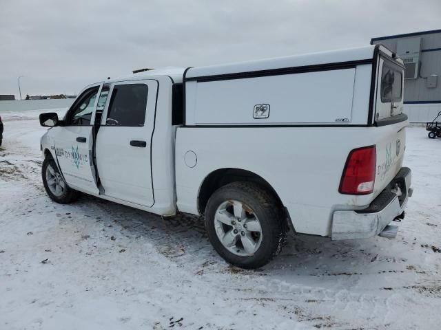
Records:
[[[90,118],[94,111],[94,104],[96,94],[98,94],[99,87],[94,87],[86,90],[79,100],[74,103],[68,113],[67,124],[74,126],[90,125]]]

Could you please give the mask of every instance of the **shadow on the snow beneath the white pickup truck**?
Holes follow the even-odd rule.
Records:
[[[98,220],[103,222],[105,228],[111,225],[113,230],[118,228],[128,239],[150,241],[159,253],[174,262],[200,268],[197,274],[218,271],[219,267],[232,274],[275,276],[291,272],[309,278],[406,271],[406,259],[381,250],[382,243],[387,243],[385,239],[331,241],[317,236],[294,235],[292,232],[278,258],[260,270],[241,270],[228,265],[214,252],[205,233],[203,217],[188,214],[160,217],[85,195],[74,205],[87,213],[98,215]],[[402,245],[399,241],[395,243]],[[373,266],[378,264],[384,264],[384,267],[373,270]]]

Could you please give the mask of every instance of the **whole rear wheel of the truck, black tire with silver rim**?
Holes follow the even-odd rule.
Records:
[[[276,198],[252,182],[234,182],[216,190],[205,212],[214,249],[238,267],[258,268],[278,254],[286,225]]]

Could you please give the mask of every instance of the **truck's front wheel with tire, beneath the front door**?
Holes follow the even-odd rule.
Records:
[[[54,159],[46,157],[41,167],[43,185],[49,197],[57,203],[68,204],[76,201],[79,192],[70,188],[61,176]]]

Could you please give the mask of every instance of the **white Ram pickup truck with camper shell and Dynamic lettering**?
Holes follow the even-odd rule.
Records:
[[[255,268],[288,230],[394,237],[411,196],[403,62],[382,45],[154,69],[85,87],[43,113],[43,184],[173,216],[205,216],[229,263]]]

